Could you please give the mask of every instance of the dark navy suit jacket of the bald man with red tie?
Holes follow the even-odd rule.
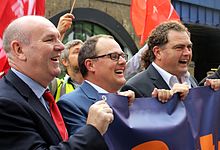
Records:
[[[107,149],[101,134],[85,126],[67,142],[37,96],[12,71],[0,80],[0,149]]]

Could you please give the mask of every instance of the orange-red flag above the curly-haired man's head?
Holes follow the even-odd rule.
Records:
[[[161,22],[180,18],[170,0],[132,0],[131,20],[136,34],[141,36],[140,44],[143,45],[152,29]]]

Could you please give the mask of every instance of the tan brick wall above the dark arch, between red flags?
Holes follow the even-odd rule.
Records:
[[[73,0],[46,0],[46,17],[50,18],[59,12],[70,10]],[[76,0],[74,8],[94,8],[107,13],[117,20],[130,34],[138,47],[138,37],[130,20],[131,0]]]

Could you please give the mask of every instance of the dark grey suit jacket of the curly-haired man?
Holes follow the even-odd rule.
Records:
[[[197,86],[197,81],[190,77],[192,87]],[[126,84],[121,88],[121,91],[133,90],[135,97],[151,97],[151,93],[154,88],[158,89],[170,89],[167,83],[164,81],[159,72],[153,67],[152,64],[149,67],[129,79]]]

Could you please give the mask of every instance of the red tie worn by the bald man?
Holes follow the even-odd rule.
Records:
[[[43,94],[43,97],[46,101],[49,102],[50,113],[51,113],[54,123],[56,124],[60,132],[60,135],[62,136],[64,141],[67,141],[68,133],[65,127],[65,123],[63,121],[63,117],[61,116],[60,110],[58,109],[58,106],[53,98],[53,95],[50,93],[49,90],[46,90]]]

